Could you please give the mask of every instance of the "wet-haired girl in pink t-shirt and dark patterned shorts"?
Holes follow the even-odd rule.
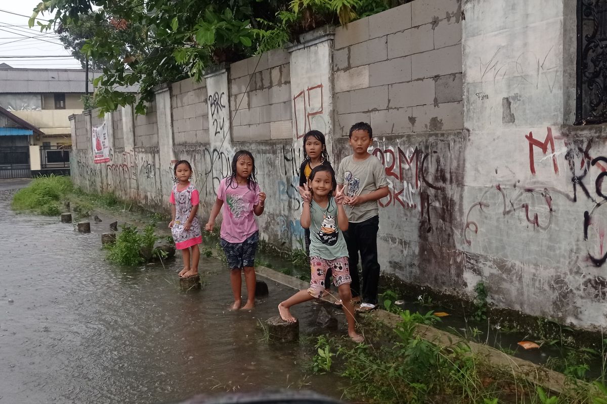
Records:
[[[239,310],[242,299],[240,289],[245,272],[246,292],[248,294],[243,309],[255,305],[255,252],[259,242],[259,228],[255,216],[263,213],[266,199],[256,179],[257,170],[253,154],[246,150],[237,151],[232,159],[232,173],[222,179],[217,189],[217,199],[211,209],[211,216],[205,225],[206,231],[212,231],[215,218],[222,209],[222,228],[220,245],[225,251],[230,268],[230,282],[234,303],[232,310]],[[224,203],[225,202],[225,203]]]

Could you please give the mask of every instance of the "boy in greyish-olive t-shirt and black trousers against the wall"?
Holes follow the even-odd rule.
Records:
[[[362,263],[362,304],[357,311],[371,311],[378,303],[379,262],[377,235],[379,230],[378,200],[388,195],[388,180],[378,159],[367,149],[373,142],[371,125],[359,122],[350,128],[353,154],[339,164],[337,186],[345,188],[344,209],[348,215],[348,230],[344,238],[348,247],[352,300],[360,300],[358,253]]]

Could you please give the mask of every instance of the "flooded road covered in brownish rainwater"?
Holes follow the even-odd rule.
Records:
[[[293,293],[231,313],[228,269],[202,257],[202,291],[178,286],[180,259],[138,268],[104,261],[100,233],[58,217],[15,214],[22,182],[0,182],[0,404],[161,403],[202,392],[310,389],[339,398],[334,375],[306,376],[307,351],[268,345],[258,319]],[[311,305],[302,333],[322,333]],[[343,316],[338,317],[343,322]]]

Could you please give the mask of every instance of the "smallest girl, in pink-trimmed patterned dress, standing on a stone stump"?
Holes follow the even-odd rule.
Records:
[[[183,270],[180,277],[192,277],[198,275],[198,260],[200,250],[198,244],[202,243],[200,234],[200,222],[198,222],[198,204],[200,196],[189,180],[192,178],[192,166],[185,160],[180,160],[174,168],[175,181],[171,197],[172,220],[169,223],[175,248],[183,254]],[[191,248],[191,251],[190,251]]]

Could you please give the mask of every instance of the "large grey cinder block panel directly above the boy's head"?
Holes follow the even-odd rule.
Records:
[[[416,0],[337,28],[337,132],[359,121],[377,134],[463,128],[460,20],[456,0]]]

